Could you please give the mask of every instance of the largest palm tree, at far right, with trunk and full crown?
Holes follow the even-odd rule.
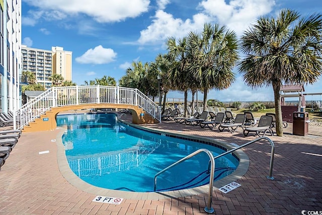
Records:
[[[283,135],[280,88],[283,84],[312,84],[322,69],[322,15],[301,18],[282,10],[274,19],[261,17],[241,37],[246,57],[239,63],[247,85],[272,86],[276,134]]]

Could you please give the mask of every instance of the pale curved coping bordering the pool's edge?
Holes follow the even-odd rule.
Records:
[[[121,120],[120,120],[121,121]],[[214,138],[210,137],[203,137],[203,136],[197,136],[197,135],[187,135],[182,134],[179,132],[169,132],[164,131],[156,128],[147,128],[144,126],[139,126],[136,124],[132,124],[129,122],[122,121],[124,124],[128,124],[129,126],[143,129],[146,131],[152,131],[157,132],[159,134],[166,133],[168,135],[176,135],[183,138],[189,138],[192,140],[202,140],[205,142],[211,142],[215,145],[219,145],[226,150],[231,150],[235,148],[235,146],[228,144],[226,142],[218,141]],[[119,197],[119,198],[126,198],[126,199],[145,199],[145,200],[157,200],[157,199],[165,199],[165,198],[178,198],[178,197],[185,197],[185,196],[191,196],[191,195],[197,195],[197,194],[203,194],[208,193],[209,191],[209,185],[203,185],[199,187],[189,188],[189,189],[183,189],[183,190],[174,190],[174,191],[166,191],[166,192],[130,192],[130,191],[122,191],[122,190],[111,190],[106,188],[97,187],[94,185],[91,185],[82,179],[78,178],[70,169],[67,158],[65,155],[65,150],[62,144],[62,135],[66,132],[66,127],[61,127],[62,129],[58,132],[56,136],[56,146],[57,146],[57,163],[58,168],[61,173],[61,175],[73,186],[76,188],[83,190],[88,193],[92,193],[95,195],[101,195],[101,196],[113,196],[113,197]],[[249,168],[249,158],[246,155],[243,150],[236,150],[234,152],[235,156],[239,159],[239,165],[237,166],[236,170],[231,173],[230,175],[219,179],[217,181],[213,182],[213,189],[218,189],[226,184],[229,184],[235,180],[240,179],[243,177],[248,168]]]

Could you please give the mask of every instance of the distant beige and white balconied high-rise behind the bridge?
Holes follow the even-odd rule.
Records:
[[[22,70],[31,71],[38,84],[46,89],[51,88],[50,77],[53,74],[61,75],[65,81],[71,81],[71,53],[58,46],[44,50],[22,45]]]

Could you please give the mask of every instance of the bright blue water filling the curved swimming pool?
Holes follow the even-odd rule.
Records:
[[[58,115],[67,125],[62,136],[70,169],[98,187],[135,192],[153,191],[154,175],[195,152],[208,149],[214,156],[225,151],[198,142],[154,134],[120,123],[116,115]],[[209,183],[205,153],[157,177],[157,190],[178,190]],[[215,180],[231,174],[238,165],[232,155],[215,160]]]

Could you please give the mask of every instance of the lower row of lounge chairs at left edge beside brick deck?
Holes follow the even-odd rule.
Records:
[[[21,133],[21,130],[0,131],[0,171],[13,148],[15,148]]]

